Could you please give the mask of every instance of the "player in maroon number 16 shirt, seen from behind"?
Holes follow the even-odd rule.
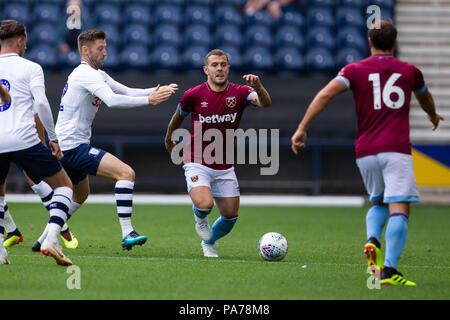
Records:
[[[366,215],[364,254],[370,271],[381,284],[413,286],[397,271],[407,238],[410,203],[419,201],[409,139],[409,103],[412,93],[435,130],[443,118],[436,113],[422,72],[396,59],[397,30],[390,20],[378,20],[369,29],[371,56],[345,66],[313,99],[291,138],[292,150],[305,147],[306,131],[331,99],[350,89],[356,106],[358,132],[356,164],[372,207]],[[386,226],[386,252],[380,249]]]

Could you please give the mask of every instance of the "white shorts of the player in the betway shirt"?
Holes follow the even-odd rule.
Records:
[[[183,166],[188,193],[192,188],[206,186],[213,197],[239,197],[239,184],[234,167],[226,170],[214,170],[199,163],[186,163]]]

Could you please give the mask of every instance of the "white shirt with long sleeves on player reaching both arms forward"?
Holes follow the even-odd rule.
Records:
[[[152,89],[129,89],[114,81],[102,70],[86,62],[69,75],[61,98],[56,122],[56,134],[61,150],[71,150],[90,143],[91,127],[102,101],[111,108],[130,108],[148,105]],[[133,96],[123,95],[133,92]]]

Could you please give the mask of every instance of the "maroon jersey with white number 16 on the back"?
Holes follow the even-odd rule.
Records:
[[[345,66],[336,79],[353,91],[358,119],[356,157],[380,152],[411,154],[409,103],[426,89],[422,72],[390,55]]]

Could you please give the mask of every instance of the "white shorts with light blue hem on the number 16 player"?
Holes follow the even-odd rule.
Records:
[[[382,152],[356,159],[371,202],[418,202],[411,155]]]

